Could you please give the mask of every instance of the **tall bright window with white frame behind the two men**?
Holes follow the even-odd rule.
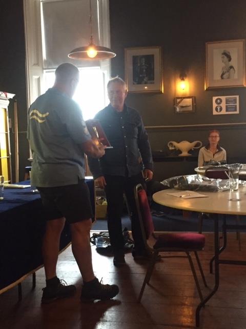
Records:
[[[109,0],[92,0],[93,36],[110,48]],[[107,104],[110,60],[75,61],[68,53],[90,42],[89,1],[24,0],[28,106],[53,85],[54,70],[62,63],[76,65],[80,83],[74,99],[84,118],[93,118]]]

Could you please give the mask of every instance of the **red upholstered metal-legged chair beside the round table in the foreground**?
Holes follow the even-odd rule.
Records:
[[[195,284],[198,290],[200,300],[202,301],[202,293],[200,285],[197,279],[196,271],[194,264],[190,255],[190,252],[195,253],[195,258],[200,270],[200,274],[203,280],[204,285],[207,287],[206,279],[204,277],[200,260],[198,258],[197,251],[200,251],[204,247],[205,237],[203,234],[198,233],[165,233],[160,234],[157,237],[154,235],[154,225],[152,220],[152,215],[150,212],[150,207],[148,203],[148,198],[146,191],[142,188],[141,184],[138,184],[135,187],[135,200],[136,206],[140,221],[141,233],[144,239],[146,250],[151,254],[150,264],[147,269],[147,273],[144,279],[144,282],[141,287],[141,291],[138,297],[138,302],[140,302],[142,295],[144,294],[145,286],[149,283],[155,262],[158,259],[160,253],[161,258],[170,258],[170,257],[187,257],[191,266],[192,274],[195,280]],[[153,247],[148,244],[148,239],[150,236],[154,236],[156,242]],[[163,255],[163,252],[184,252],[186,255]]]

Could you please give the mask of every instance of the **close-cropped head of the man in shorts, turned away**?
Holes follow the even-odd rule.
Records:
[[[54,87],[61,92],[73,97],[79,80],[79,71],[76,66],[70,63],[63,63],[55,70]]]

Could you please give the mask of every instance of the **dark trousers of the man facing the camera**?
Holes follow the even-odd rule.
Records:
[[[125,193],[128,207],[131,213],[132,236],[134,240],[134,249],[138,252],[145,250],[144,242],[142,241],[140,224],[137,216],[137,210],[134,198],[134,187],[137,184],[142,184],[145,187],[145,180],[142,174],[132,177],[110,176],[105,175],[106,179],[106,197],[108,203],[108,229],[110,243],[114,253],[124,250],[124,239],[121,227],[121,215],[123,210],[123,202]]]

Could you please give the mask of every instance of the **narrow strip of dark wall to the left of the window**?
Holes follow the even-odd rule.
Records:
[[[27,99],[25,71],[25,34],[22,0],[0,1],[0,90],[15,94],[18,108],[19,179],[24,179],[29,166],[29,147],[26,138]],[[9,117],[13,121],[13,100]],[[12,172],[14,173],[14,129],[10,129]],[[14,175],[13,175],[14,179]]]

